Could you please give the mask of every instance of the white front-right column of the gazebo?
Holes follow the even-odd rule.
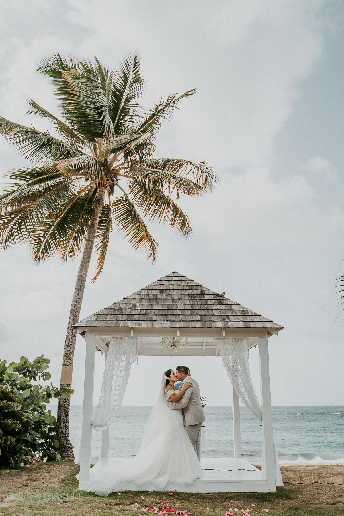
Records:
[[[261,469],[266,474],[270,491],[276,489],[275,461],[273,451],[272,411],[268,337],[259,337],[260,397],[263,423],[263,457]]]

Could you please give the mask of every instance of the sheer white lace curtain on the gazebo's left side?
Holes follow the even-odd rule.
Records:
[[[116,418],[136,353],[137,338],[112,337],[105,361],[101,397],[92,420],[92,427],[96,430],[105,430]],[[80,443],[81,438],[75,452],[75,464],[80,464]]]

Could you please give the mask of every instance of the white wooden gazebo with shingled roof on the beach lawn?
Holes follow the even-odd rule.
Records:
[[[278,335],[283,326],[231,301],[225,297],[225,293],[211,291],[178,272],[163,276],[81,320],[75,326],[86,341],[79,489],[85,487],[90,474],[95,352],[107,353],[111,341],[119,342],[121,338],[123,341],[124,337],[135,348],[130,357],[129,368],[136,356],[172,356],[173,346],[182,343],[186,346],[183,350],[185,356],[222,356],[232,381],[234,458],[202,458],[203,478],[183,488],[169,484],[164,490],[212,493],[275,491],[280,470],[272,434],[268,338]],[[163,340],[165,348],[162,346]],[[244,359],[248,357],[248,350],[256,345],[259,349],[260,404],[254,391],[253,394],[248,393],[247,389],[252,388],[249,372],[246,370],[246,376],[237,374],[240,364],[240,370],[244,372]],[[167,353],[165,349],[168,350]],[[236,361],[235,364],[233,360]],[[246,363],[248,364],[247,360]],[[118,407],[122,402],[125,386],[126,383],[122,394],[117,396]],[[253,397],[256,399],[255,406]],[[239,399],[261,422],[262,471],[241,458]],[[112,420],[116,417],[118,407],[112,411]],[[97,429],[107,426],[102,435],[102,458],[93,467],[120,467],[126,459],[109,458],[110,420],[108,418],[104,421],[105,423],[98,423],[98,427],[93,421]],[[281,481],[277,485],[281,485]],[[135,490],[137,486],[128,483],[122,489]],[[158,490],[153,483],[143,486],[143,489]]]

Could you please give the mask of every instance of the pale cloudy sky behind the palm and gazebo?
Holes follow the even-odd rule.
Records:
[[[197,88],[163,124],[158,156],[206,161],[221,184],[183,201],[193,236],[152,225],[152,267],[114,230],[101,277],[91,262],[80,319],[174,270],[284,326],[269,338],[273,405],[342,405],[343,328],[335,279],[343,256],[344,6],[332,0],[0,1],[0,115],[25,116],[33,98],[58,113],[35,73],[52,51],[96,55],[116,68],[142,58],[151,107]],[[0,174],[23,159],[0,141]],[[0,255],[0,358],[51,360],[59,384],[80,257],[35,265],[27,247]],[[259,396],[257,350],[250,369]],[[232,405],[221,359],[142,357],[124,405],[152,405],[161,373],[188,365],[208,406]],[[83,400],[85,342],[77,337],[72,404]],[[96,356],[94,401],[104,356]]]

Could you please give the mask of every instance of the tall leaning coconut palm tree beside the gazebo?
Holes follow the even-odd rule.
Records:
[[[178,103],[195,90],[170,95],[144,111],[137,102],[144,80],[136,53],[113,71],[96,58],[92,62],[54,53],[37,71],[53,80],[61,117],[30,100],[27,114],[47,119],[53,134],[0,118],[0,132],[32,165],[8,175],[11,183],[0,197],[0,245],[6,250],[29,243],[37,263],[55,254],[64,261],[74,259],[84,246],[63,352],[62,365],[73,366],[74,324],[94,244],[93,282],[102,272],[113,225],[154,264],[158,246],[143,217],[187,238],[190,221],[177,202],[210,191],[218,178],[206,163],[155,157],[161,122],[171,119]],[[61,383],[60,392],[65,397],[58,400],[57,439],[62,457],[73,459],[71,384]]]

